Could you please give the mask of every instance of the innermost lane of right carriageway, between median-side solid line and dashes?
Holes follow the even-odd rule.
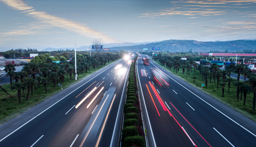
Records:
[[[142,65],[138,65],[138,70],[142,67]],[[153,89],[149,86],[149,77],[142,77],[139,74],[139,78],[157,146],[164,147],[170,145],[175,147],[192,147],[192,142],[183,129],[167,111],[163,110],[155,92],[153,92]]]

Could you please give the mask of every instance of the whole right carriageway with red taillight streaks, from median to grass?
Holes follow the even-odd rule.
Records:
[[[149,66],[141,59],[136,66],[149,147],[255,147],[255,122],[151,59]],[[152,67],[169,86],[153,80]]]

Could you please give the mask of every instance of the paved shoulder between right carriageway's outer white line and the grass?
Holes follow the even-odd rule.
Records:
[[[160,70],[165,71],[158,64],[154,64],[154,65],[157,66],[158,68],[160,68]],[[183,81],[182,79],[178,78],[177,76],[175,76],[169,72],[165,72],[165,73],[170,78],[172,78],[171,80],[173,80],[173,81],[175,80],[174,82],[178,83],[178,85],[180,85],[184,89],[184,91],[189,91],[192,95],[196,96],[199,100],[204,101],[206,105],[214,107],[214,109],[217,110],[218,112],[220,112],[220,114],[225,114],[226,116],[231,118],[233,121],[235,121],[241,125],[243,124],[244,127],[247,126],[248,127],[247,129],[250,129],[255,134],[256,123],[254,121],[243,116],[242,114],[238,113],[237,111],[229,108],[228,106],[224,105],[217,99],[212,98],[212,97],[208,96],[207,94],[201,92],[200,90],[194,88],[192,85],[188,84],[187,82]]]

